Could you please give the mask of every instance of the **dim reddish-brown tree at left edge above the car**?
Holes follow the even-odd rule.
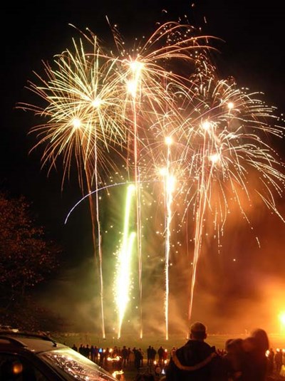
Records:
[[[60,254],[59,246],[46,238],[43,226],[36,225],[31,204],[24,197],[12,199],[0,192],[2,316],[24,306],[32,289],[53,275]]]

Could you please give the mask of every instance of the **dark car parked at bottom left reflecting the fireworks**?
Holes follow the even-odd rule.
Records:
[[[0,330],[1,381],[114,381],[87,357],[44,333]]]

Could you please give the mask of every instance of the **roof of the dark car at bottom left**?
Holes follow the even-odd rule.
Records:
[[[18,330],[0,330],[0,349],[19,348],[31,350],[33,353],[69,348],[58,343],[46,333],[29,333]]]

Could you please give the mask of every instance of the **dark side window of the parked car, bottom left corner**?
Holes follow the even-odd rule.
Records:
[[[0,354],[0,380],[48,381],[43,373],[21,355]]]

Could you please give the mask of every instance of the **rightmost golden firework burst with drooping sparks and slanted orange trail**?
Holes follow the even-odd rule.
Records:
[[[282,195],[284,166],[268,143],[270,135],[283,137],[284,127],[268,124],[270,118],[275,118],[272,109],[254,98],[256,94],[248,95],[224,80],[202,75],[199,80],[199,90],[194,98],[191,93],[187,106],[190,117],[185,118],[185,126],[190,127],[183,127],[180,139],[185,139],[184,173],[197,182],[185,189],[185,212],[192,202],[195,205],[189,318],[206,213],[207,218],[212,214],[214,226],[222,230],[235,202],[250,224],[242,197],[250,204],[258,195],[284,221],[274,202],[274,193]]]

